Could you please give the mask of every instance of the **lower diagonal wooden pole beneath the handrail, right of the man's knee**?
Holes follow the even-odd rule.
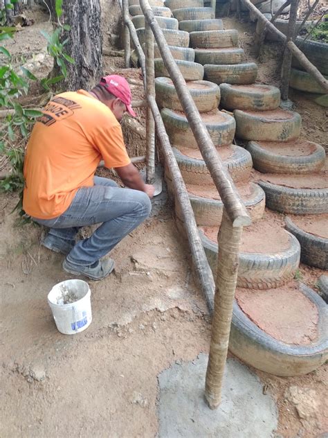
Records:
[[[159,112],[156,100],[153,96],[147,96],[149,106],[152,109],[152,113],[155,120],[156,134],[161,142],[161,151],[163,152],[165,163],[170,168],[172,175],[172,186],[174,191],[174,197],[179,202],[182,212],[182,219],[185,225],[185,231],[187,233],[188,243],[192,256],[192,264],[197,275],[197,279],[201,286],[201,290],[206,299],[208,310],[212,313],[213,310],[213,297],[215,291],[215,282],[213,279],[212,270],[208,264],[208,259],[199,237],[197,229],[197,223],[194,219],[194,211],[190,204],[187,189],[185,188],[185,182],[181,176],[181,172],[176,162],[176,157],[172,151],[169,137],[167,136],[165,126],[162,120],[161,113]]]

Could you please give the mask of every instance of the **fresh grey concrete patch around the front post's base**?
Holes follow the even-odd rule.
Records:
[[[208,355],[176,362],[158,376],[159,438],[270,438],[277,408],[263,385],[244,365],[229,359],[222,402],[210,410],[203,398]]]

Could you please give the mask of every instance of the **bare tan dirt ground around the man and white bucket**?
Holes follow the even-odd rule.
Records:
[[[118,20],[109,14],[114,6],[103,8],[107,47],[118,33]],[[17,55],[45,53],[39,30],[50,30],[48,17],[29,13],[35,24],[19,31],[10,46]],[[246,54],[254,59],[254,24],[224,21],[226,28],[239,30]],[[279,51],[277,44],[266,44],[259,82],[277,85]],[[40,60],[38,70],[51,67],[46,56]],[[122,73],[121,67],[122,58],[104,59],[107,73]],[[123,72],[140,78],[136,70]],[[141,98],[143,91],[135,91]],[[319,123],[325,109],[300,96],[294,103],[304,134],[327,141],[327,124]],[[138,110],[138,120],[143,123],[143,111]],[[143,152],[142,139],[131,133],[126,139],[132,155]],[[93,322],[72,337],[57,331],[46,301],[55,283],[70,278],[62,270],[62,256],[39,245],[44,232],[39,227],[15,226],[10,212],[16,203],[17,195],[0,193],[0,437],[155,437],[158,374],[174,362],[208,353],[210,341],[206,303],[192,279],[188,247],[176,231],[170,202],[113,250],[115,274],[90,282]],[[271,211],[266,219],[283,220]],[[312,288],[320,273],[300,265],[300,278]],[[295,378],[253,371],[277,401],[276,437],[327,432],[327,365]],[[314,411],[300,417],[288,395],[293,387],[307,394]]]

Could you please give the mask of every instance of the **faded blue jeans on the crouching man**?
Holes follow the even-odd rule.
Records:
[[[95,185],[82,187],[70,207],[57,218],[33,220],[50,228],[48,236],[75,244],[80,227],[102,222],[91,237],[76,243],[67,260],[76,265],[91,265],[106,255],[122,238],[148,216],[152,204],[142,191],[122,189],[111,179],[94,177]]]

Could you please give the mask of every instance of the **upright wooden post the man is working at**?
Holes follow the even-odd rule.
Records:
[[[145,17],[146,95],[155,97],[154,35]],[[155,177],[155,122],[152,110],[147,106],[146,118],[146,182],[152,184]]]

